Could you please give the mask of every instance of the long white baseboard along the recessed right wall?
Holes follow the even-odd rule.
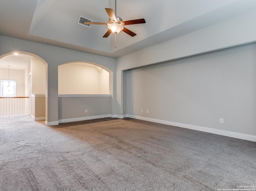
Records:
[[[220,130],[220,129],[212,129],[212,128],[208,128],[208,127],[200,127],[200,126],[196,126],[196,125],[188,125],[188,124],[184,124],[184,123],[164,121],[164,120],[160,120],[160,119],[152,119],[152,118],[148,118],[148,117],[140,117],[140,116],[135,116],[135,115],[124,115],[124,117],[130,117],[133,119],[140,119],[140,120],[150,121],[150,122],[154,122],[154,123],[172,125],[172,126],[176,126],[176,127],[193,129],[196,131],[203,131],[203,132],[207,132],[207,133],[213,133],[213,134],[217,134],[217,135],[223,135],[223,136],[227,136],[227,137],[233,137],[233,138],[237,138],[237,139],[244,139],[244,140],[256,142],[255,135],[248,135],[248,134],[236,133],[236,132],[232,132],[232,131],[224,131],[224,130]]]

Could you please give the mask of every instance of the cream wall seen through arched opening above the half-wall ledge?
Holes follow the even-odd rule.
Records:
[[[109,94],[109,72],[94,66],[58,66],[58,94]]]

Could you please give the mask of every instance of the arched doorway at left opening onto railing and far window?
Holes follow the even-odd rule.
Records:
[[[10,68],[8,80],[16,82],[16,94],[0,99],[1,116],[31,115],[35,121],[45,120],[47,63],[29,52],[4,54],[0,56],[0,79],[6,79],[6,66]]]

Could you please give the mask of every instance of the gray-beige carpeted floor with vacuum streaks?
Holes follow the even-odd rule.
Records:
[[[136,119],[0,118],[0,190],[208,191],[256,185],[256,143]]]

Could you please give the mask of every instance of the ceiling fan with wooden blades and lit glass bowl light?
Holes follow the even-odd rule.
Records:
[[[105,8],[108,16],[109,16],[109,23],[102,23],[102,22],[84,22],[84,24],[102,24],[102,25],[107,25],[108,26],[108,31],[106,34],[104,34],[103,38],[107,38],[111,32],[114,34],[118,34],[121,30],[125,32],[126,34],[130,36],[135,36],[136,34],[127,28],[125,28],[125,25],[131,25],[131,24],[142,24],[146,23],[144,18],[141,19],[136,19],[136,20],[128,20],[128,21],[123,21],[122,18],[118,17],[115,15],[116,13],[116,1],[115,1],[115,13],[113,9],[110,8]]]

